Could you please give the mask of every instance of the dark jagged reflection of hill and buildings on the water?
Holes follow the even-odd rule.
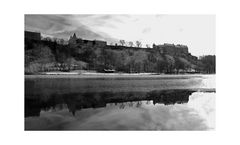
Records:
[[[101,92],[101,93],[78,93],[51,95],[48,100],[41,100],[41,97],[25,97],[25,117],[39,116],[41,110],[55,108],[59,104],[67,104],[67,108],[73,115],[76,110],[84,108],[106,107],[107,104],[120,103],[120,108],[124,108],[126,102],[137,102],[137,107],[141,101],[153,101],[153,104],[182,104],[187,103],[189,96],[194,91],[190,90],[164,90],[151,92]],[[131,104],[130,104],[131,105]],[[130,106],[129,105],[129,106]]]

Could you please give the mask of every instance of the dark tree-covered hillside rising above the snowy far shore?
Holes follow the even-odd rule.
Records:
[[[78,42],[77,42],[78,41]],[[204,61],[202,61],[204,60]],[[125,73],[215,73],[215,56],[198,59],[187,46],[153,48],[106,45],[76,39],[73,44],[51,40],[25,40],[25,73],[112,69]]]

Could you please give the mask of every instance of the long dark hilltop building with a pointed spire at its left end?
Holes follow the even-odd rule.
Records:
[[[77,38],[76,34],[74,33],[73,36],[70,36],[68,44],[93,47],[93,46],[106,46],[107,42],[100,40],[83,40],[81,38]]]

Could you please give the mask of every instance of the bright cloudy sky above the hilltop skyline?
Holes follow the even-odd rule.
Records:
[[[187,45],[195,56],[215,54],[215,15],[25,15],[25,30],[43,37],[77,37],[141,41],[143,46],[163,43]]]

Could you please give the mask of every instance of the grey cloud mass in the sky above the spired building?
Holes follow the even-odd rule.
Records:
[[[76,17],[78,16],[78,17]],[[70,35],[76,35],[83,39],[98,39],[104,41],[117,41],[104,32],[95,32],[82,24],[79,20],[93,19],[94,15],[25,15],[25,30],[39,31],[43,36],[52,36],[68,39]],[[95,25],[103,23],[103,19],[111,17],[101,16],[95,19]]]

